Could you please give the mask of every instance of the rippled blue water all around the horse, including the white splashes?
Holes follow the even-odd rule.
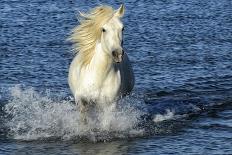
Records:
[[[82,128],[66,39],[78,11],[121,2],[0,2],[0,154],[232,154],[232,2],[124,3],[135,88]]]

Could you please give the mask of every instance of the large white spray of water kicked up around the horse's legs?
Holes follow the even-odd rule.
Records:
[[[92,141],[108,140],[143,134],[136,129],[144,112],[134,105],[141,100],[126,97],[118,107],[106,107],[98,115],[98,121],[83,126],[80,123],[77,106],[72,100],[58,100],[49,91],[38,93],[33,88],[11,89],[12,99],[4,107],[8,116],[6,126],[9,135],[19,140],[58,138],[70,140],[85,137]],[[132,106],[133,105],[133,106]]]

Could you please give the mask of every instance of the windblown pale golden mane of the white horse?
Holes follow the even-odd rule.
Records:
[[[79,54],[82,65],[90,63],[96,42],[101,38],[101,28],[113,14],[114,10],[110,6],[98,6],[89,13],[80,13],[80,25],[72,30],[69,40],[74,43],[74,53]]]

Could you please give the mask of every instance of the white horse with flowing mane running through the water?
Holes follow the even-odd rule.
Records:
[[[122,46],[124,10],[123,5],[117,10],[99,6],[80,13],[80,25],[72,31],[70,40],[77,54],[68,82],[84,115],[89,104],[112,104],[133,89],[133,70]]]

